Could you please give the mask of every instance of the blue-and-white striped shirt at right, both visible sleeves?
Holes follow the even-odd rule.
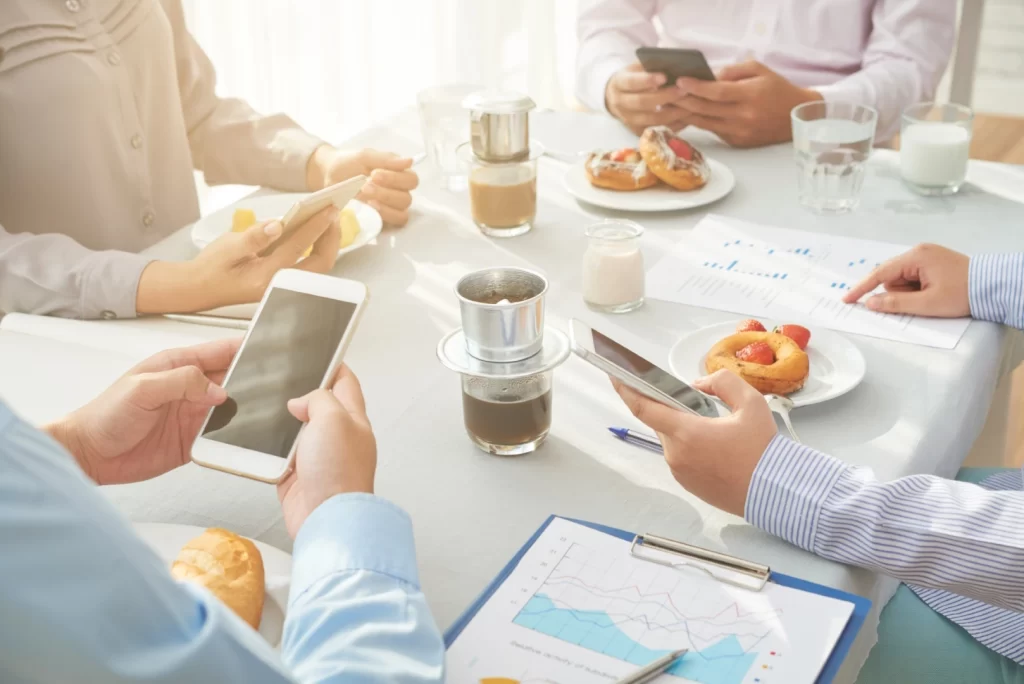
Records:
[[[971,313],[1024,328],[1024,254],[977,256]],[[978,484],[933,475],[880,482],[777,435],[746,495],[754,525],[831,560],[910,585],[932,608],[1024,665],[1024,479]]]

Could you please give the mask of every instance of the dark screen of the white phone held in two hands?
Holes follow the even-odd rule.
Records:
[[[274,288],[224,385],[203,436],[283,459],[302,423],[288,400],[324,382],[355,313],[352,302]]]

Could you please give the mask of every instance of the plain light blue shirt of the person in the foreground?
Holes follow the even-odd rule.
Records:
[[[340,495],[295,540],[280,654],[174,582],[72,457],[0,403],[0,682],[440,682],[397,507]]]

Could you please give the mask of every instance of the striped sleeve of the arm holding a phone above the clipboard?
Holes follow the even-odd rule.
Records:
[[[879,482],[776,436],[751,480],[746,519],[819,556],[1024,610],[1024,495],[912,475]]]

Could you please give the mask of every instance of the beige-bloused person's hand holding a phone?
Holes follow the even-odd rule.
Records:
[[[338,209],[328,207],[282,237],[281,221],[226,232],[191,261],[154,261],[139,279],[139,313],[203,311],[259,301],[282,268],[326,273],[338,258]],[[302,261],[309,246],[312,251]]]

